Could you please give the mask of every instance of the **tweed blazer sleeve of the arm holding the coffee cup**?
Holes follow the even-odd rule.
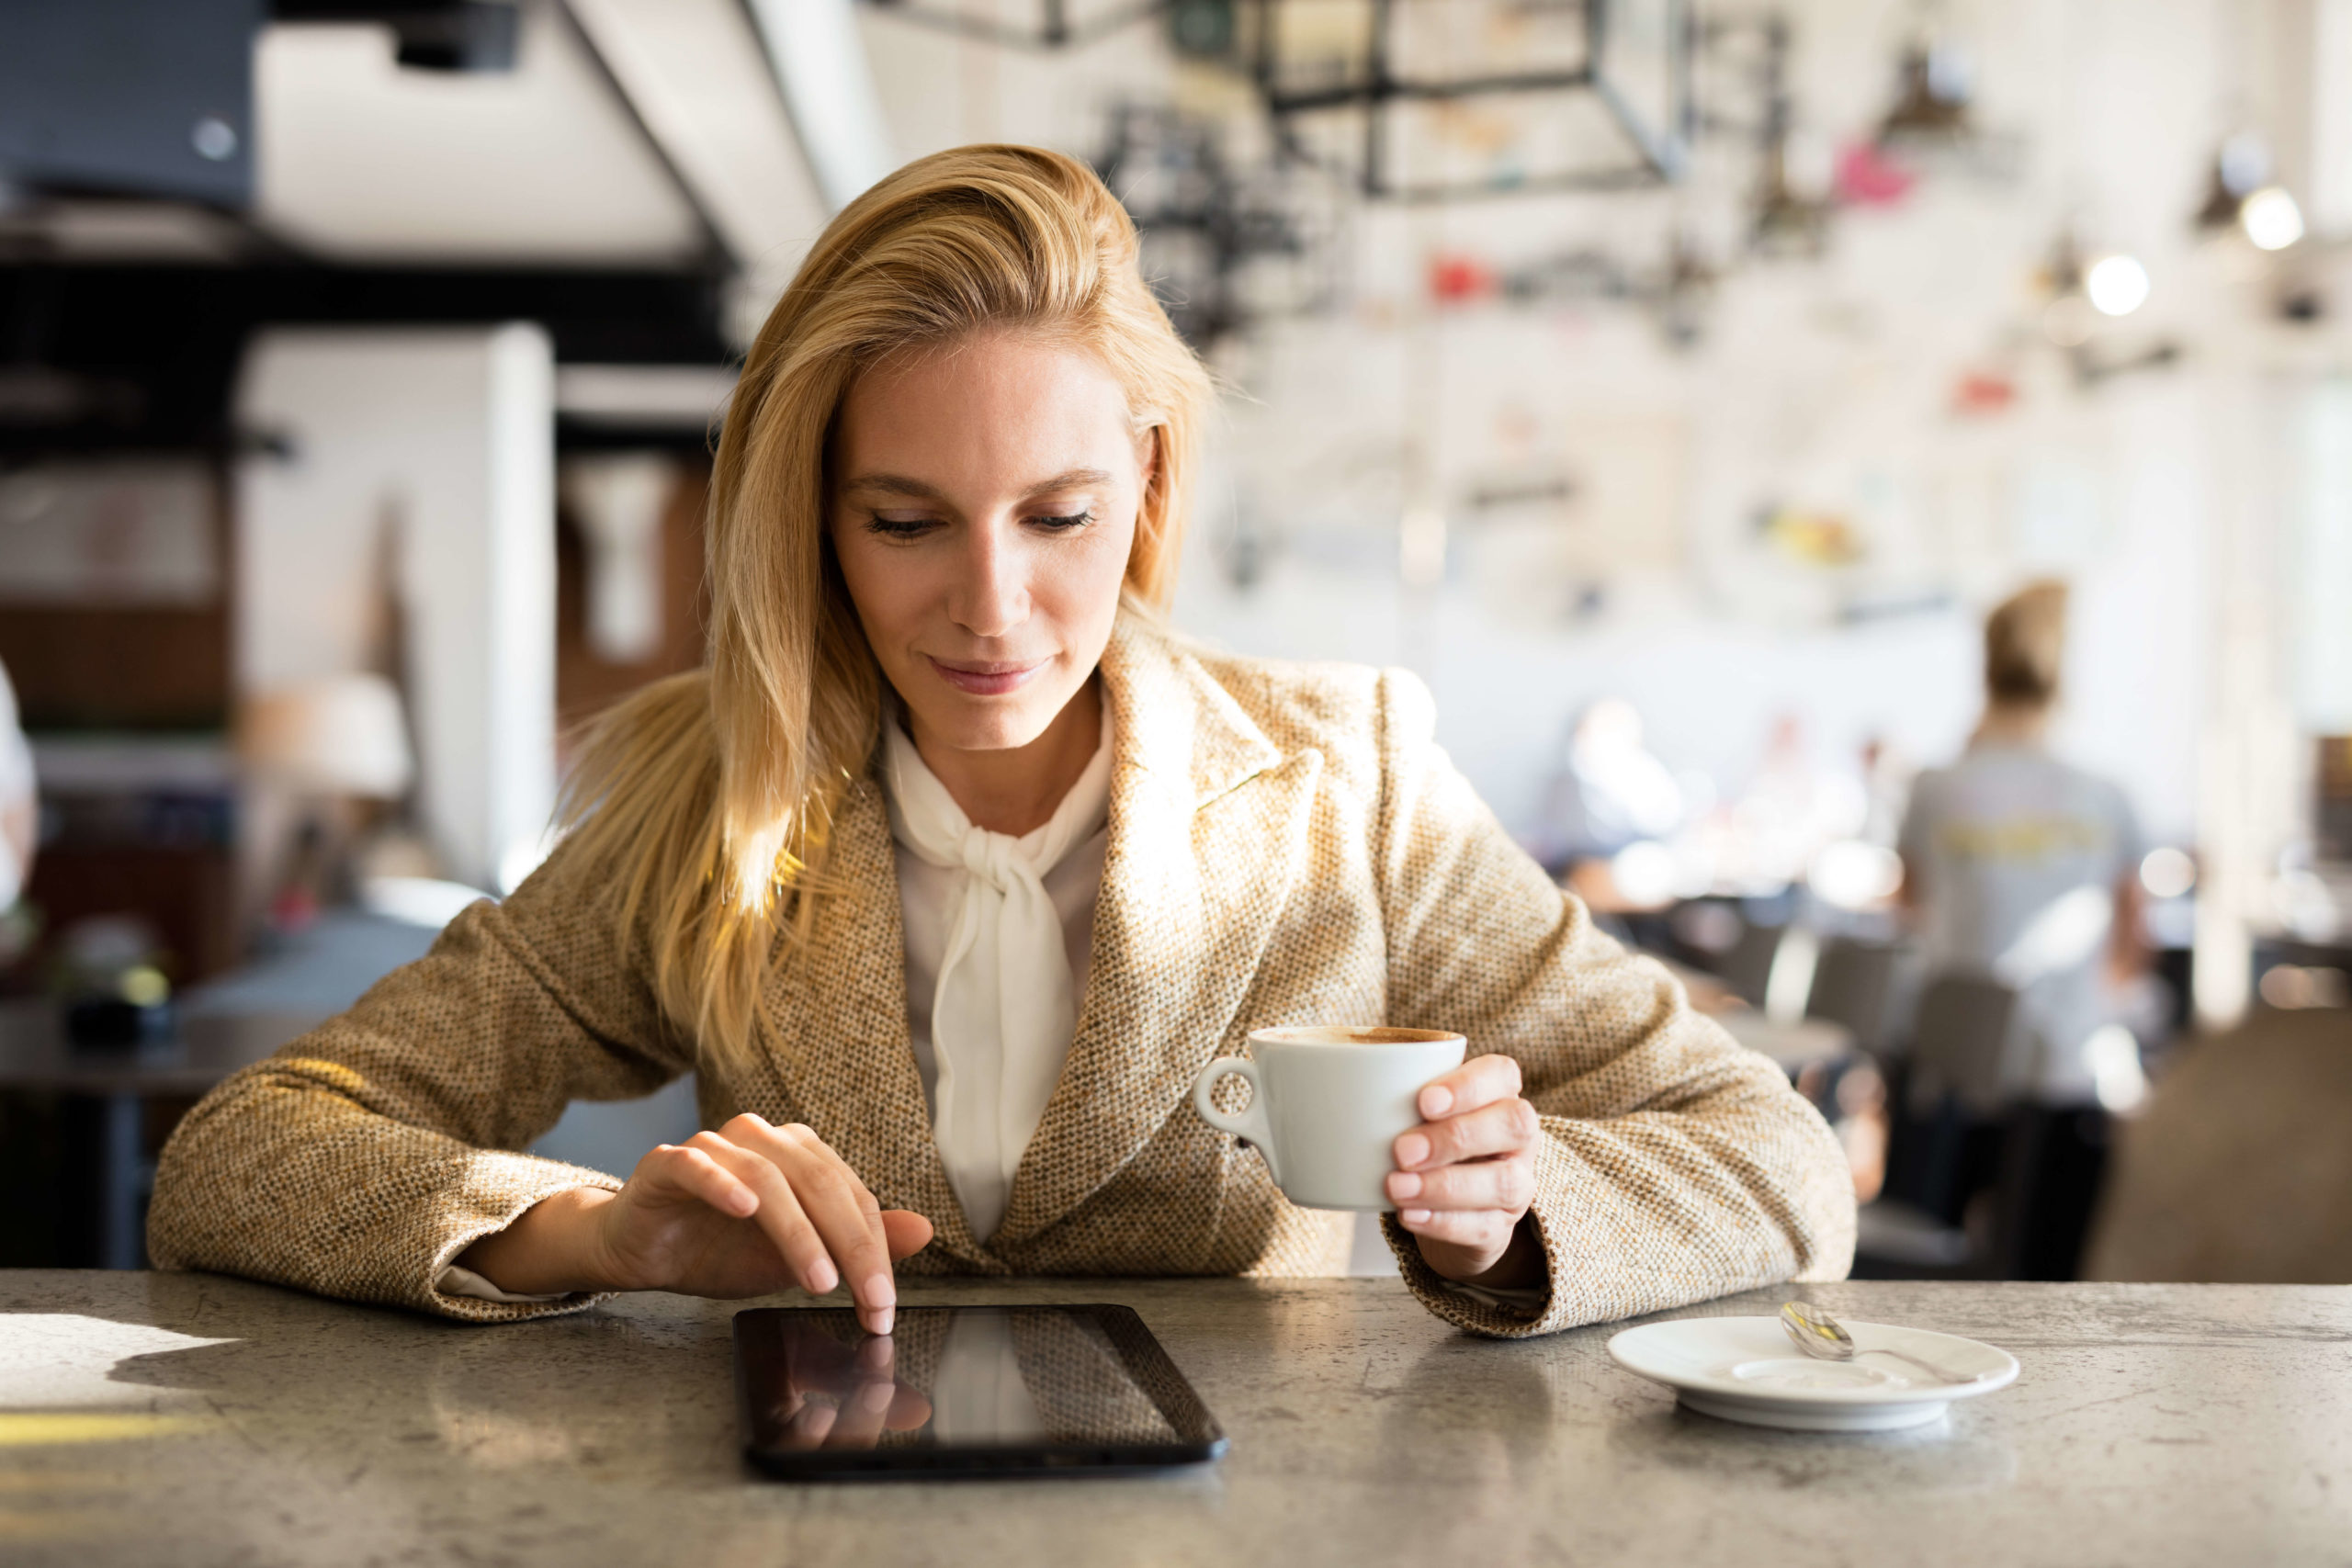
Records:
[[[1390,1020],[1517,1058],[1543,1117],[1531,1213],[1548,1286],[1529,1293],[1541,1307],[1449,1286],[1390,1215],[1414,1293],[1461,1328],[1534,1335],[1844,1279],[1853,1180],[1788,1074],[1552,886],[1435,745],[1411,675],[1381,677],[1378,745]]]

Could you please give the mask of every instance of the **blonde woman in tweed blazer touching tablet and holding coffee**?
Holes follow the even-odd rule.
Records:
[[[1842,1274],[1828,1128],[1510,844],[1418,684],[1157,621],[1207,402],[1082,165],[858,197],[727,416],[708,672],[600,726],[513,898],[186,1119],[155,1258],[475,1321],[847,1284],[877,1333],[894,1269],[1336,1272],[1348,1218],[1188,1088],[1390,1020],[1486,1051],[1390,1175],[1437,1314]],[[513,1152],[689,1067],[710,1131],[626,1182]]]

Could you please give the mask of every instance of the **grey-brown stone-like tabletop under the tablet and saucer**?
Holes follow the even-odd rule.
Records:
[[[1842,1284],[2011,1349],[1900,1434],[1733,1427],[1395,1279],[915,1281],[1112,1300],[1232,1436],[1143,1479],[748,1472],[731,1302],[466,1328],[202,1274],[0,1272],[0,1561],[2352,1563],[2352,1286]],[[1689,1314],[1771,1312],[1757,1291]]]

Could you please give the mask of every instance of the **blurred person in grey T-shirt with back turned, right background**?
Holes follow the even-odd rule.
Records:
[[[2032,583],[1985,621],[1985,717],[1959,762],[1929,769],[1903,816],[1903,903],[1929,973],[2016,992],[2004,1091],[2042,1152],[2030,1276],[2072,1276],[2105,1150],[2105,1107],[2145,1086],[2114,1025],[2140,950],[2140,830],[2124,792],[2049,750],[2067,590]]]

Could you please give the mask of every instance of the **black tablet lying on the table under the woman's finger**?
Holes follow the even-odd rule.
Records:
[[[1200,1465],[1225,1434],[1127,1307],[736,1312],[743,1453],[788,1481]]]

